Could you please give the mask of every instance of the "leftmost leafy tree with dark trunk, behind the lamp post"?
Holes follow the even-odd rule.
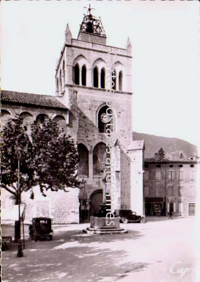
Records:
[[[1,187],[11,193],[18,204],[22,191],[35,185],[32,167],[32,144],[19,116],[9,119],[1,136]],[[18,160],[20,160],[20,190],[18,187]],[[15,241],[19,239],[19,222],[15,222]]]

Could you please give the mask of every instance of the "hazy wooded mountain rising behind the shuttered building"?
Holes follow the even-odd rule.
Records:
[[[178,159],[180,153],[188,158],[191,155],[198,155],[197,146],[178,138],[169,138],[145,133],[133,132],[133,140],[142,140],[145,142],[145,158],[152,158],[160,148],[166,153],[168,159]]]

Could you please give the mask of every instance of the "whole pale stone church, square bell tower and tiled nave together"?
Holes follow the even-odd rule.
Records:
[[[28,220],[49,216],[54,223],[78,223],[98,212],[108,187],[107,128],[114,138],[113,209],[144,213],[144,141],[132,140],[132,47],[129,39],[124,49],[108,46],[106,39],[101,21],[89,10],[77,39],[72,38],[67,24],[56,66],[54,97],[1,91],[2,124],[16,113],[29,124],[33,120],[42,122],[46,116],[54,119],[77,144],[78,175],[86,181],[80,190],[49,192],[45,198],[37,194],[37,187],[34,200],[24,194]],[[109,103],[113,105],[113,119],[107,125],[111,123]]]

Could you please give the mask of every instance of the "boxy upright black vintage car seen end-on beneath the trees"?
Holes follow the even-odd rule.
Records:
[[[40,239],[53,239],[53,230],[51,229],[51,218],[35,217],[32,224],[29,226],[29,236],[34,241]]]

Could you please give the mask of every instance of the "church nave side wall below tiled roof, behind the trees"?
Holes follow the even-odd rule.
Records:
[[[74,97],[73,97],[74,98]],[[73,107],[76,106],[73,103]],[[2,104],[1,110],[6,110],[7,114],[2,116],[2,126],[7,123],[8,118],[14,117],[16,114],[28,113],[28,119],[24,118],[24,123],[28,124],[28,133],[30,133],[30,124],[37,119],[39,114],[45,114],[51,119],[57,116],[63,116],[65,122],[62,127],[67,135],[70,135],[75,145],[77,143],[78,121],[76,110],[72,107],[72,111],[60,110],[54,108],[40,108],[34,106],[22,106],[12,104]],[[3,111],[2,111],[3,112]],[[5,112],[6,113],[6,112]],[[79,189],[69,188],[69,192],[48,192],[48,196],[40,195],[37,188],[35,190],[34,200],[30,199],[29,192],[22,193],[22,202],[25,203],[25,222],[30,223],[33,217],[51,217],[53,223],[79,223]],[[11,194],[2,189],[1,201],[3,206],[8,207],[14,204],[10,199]]]

